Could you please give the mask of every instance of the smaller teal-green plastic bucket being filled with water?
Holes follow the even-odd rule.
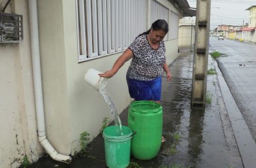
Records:
[[[129,165],[133,131],[126,126],[122,126],[122,131],[123,135],[120,135],[118,126],[105,127],[103,130],[107,167],[124,168]]]

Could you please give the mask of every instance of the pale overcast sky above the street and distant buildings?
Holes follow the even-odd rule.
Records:
[[[190,7],[196,7],[197,1],[187,0]],[[245,11],[251,5],[256,5],[256,0],[211,0],[211,23],[213,30],[218,25],[241,26],[249,23],[249,11]]]

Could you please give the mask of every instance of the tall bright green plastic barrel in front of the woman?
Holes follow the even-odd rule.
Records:
[[[129,106],[128,126],[136,133],[131,154],[141,160],[152,159],[161,147],[163,108],[152,101],[136,101]]]

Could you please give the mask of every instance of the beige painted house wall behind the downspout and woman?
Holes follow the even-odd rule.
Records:
[[[169,1],[160,2],[177,12]],[[5,3],[0,0],[0,7]],[[79,150],[80,133],[87,131],[93,138],[103,118],[112,119],[103,97],[84,81],[85,72],[108,70],[121,52],[78,63],[75,1],[37,3],[47,139],[58,153],[69,155]],[[23,42],[0,44],[0,163],[17,167],[25,155],[37,161],[43,149],[37,140],[27,1],[13,0],[5,12],[23,15]],[[165,45],[170,64],[178,55],[178,39]],[[125,80],[128,66],[129,62],[107,83],[119,113],[131,102]]]

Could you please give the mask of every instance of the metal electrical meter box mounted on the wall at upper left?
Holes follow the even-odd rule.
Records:
[[[0,13],[0,43],[23,41],[22,15]]]

